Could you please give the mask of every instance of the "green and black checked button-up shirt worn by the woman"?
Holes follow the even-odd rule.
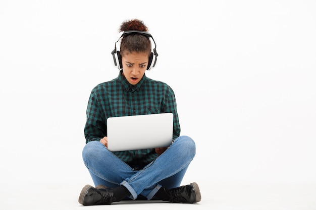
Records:
[[[136,85],[131,85],[123,75],[97,85],[91,91],[87,121],[84,127],[86,143],[100,141],[107,136],[109,117],[157,114],[171,112],[174,115],[173,139],[180,135],[176,98],[165,83],[154,81],[145,75]],[[158,155],[154,149],[114,152],[126,163],[147,164]]]

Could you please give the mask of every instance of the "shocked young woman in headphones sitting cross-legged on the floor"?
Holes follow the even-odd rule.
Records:
[[[201,194],[195,182],[180,186],[195,156],[195,143],[188,136],[180,136],[174,92],[167,84],[145,76],[146,69],[156,61],[157,53],[151,49],[153,38],[137,19],[123,22],[120,30],[124,32],[120,51],[112,52],[120,74],[97,85],[88,102],[82,156],[96,187],[83,187],[79,203],[111,204],[129,198],[199,202]],[[170,112],[174,116],[173,143],[168,148],[121,152],[107,149],[109,117]]]

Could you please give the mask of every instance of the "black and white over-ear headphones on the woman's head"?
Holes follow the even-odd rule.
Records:
[[[141,34],[141,35],[144,35],[144,36],[152,39],[152,41],[154,43],[154,48],[151,50],[151,52],[149,54],[148,65],[147,65],[147,68],[146,68],[147,70],[150,70],[156,64],[158,53],[156,51],[156,43],[155,43],[155,41],[153,40],[151,34],[146,32],[146,31],[131,30],[131,31],[124,31],[123,32],[123,34],[120,36],[118,41],[115,42],[114,50],[111,52],[111,54],[113,55],[114,65],[117,66],[120,69],[120,71],[123,69],[122,56],[121,56],[120,51],[117,50],[117,43],[120,41],[120,39],[123,36],[128,36],[128,35],[131,35],[131,34]]]

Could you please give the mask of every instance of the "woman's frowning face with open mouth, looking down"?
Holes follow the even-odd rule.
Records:
[[[126,80],[136,85],[144,76],[148,65],[148,53],[132,52],[122,55],[123,75]]]

